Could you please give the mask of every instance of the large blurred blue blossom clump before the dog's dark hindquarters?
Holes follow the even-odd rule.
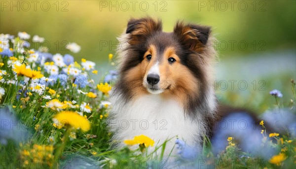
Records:
[[[227,138],[234,137],[234,143],[237,143],[242,151],[269,159],[275,150],[267,146],[261,147],[262,134],[260,134],[260,130],[261,127],[250,114],[233,112],[214,126],[211,140],[213,153],[218,154],[225,150],[228,145]]]

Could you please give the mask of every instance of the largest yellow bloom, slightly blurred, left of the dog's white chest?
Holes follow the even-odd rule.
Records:
[[[90,129],[89,121],[72,111],[62,111],[53,118],[53,121],[58,128],[69,125],[76,129],[80,128],[83,131]]]

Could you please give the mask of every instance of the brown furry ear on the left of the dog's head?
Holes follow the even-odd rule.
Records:
[[[150,17],[145,17],[141,19],[130,19],[126,34],[131,34],[130,43],[135,44],[137,42],[143,42],[145,38],[154,32],[162,30],[162,23],[160,20],[153,20]]]

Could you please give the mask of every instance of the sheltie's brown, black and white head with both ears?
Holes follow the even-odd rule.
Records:
[[[131,19],[119,38],[121,92],[127,98],[160,94],[182,102],[201,99],[212,80],[215,51],[210,34],[207,26],[178,22],[173,32],[166,33],[159,20]]]

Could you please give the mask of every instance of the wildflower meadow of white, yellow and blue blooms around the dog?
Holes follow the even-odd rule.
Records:
[[[233,136],[239,131],[234,130],[225,133],[225,139],[218,139],[218,145],[222,141],[225,144],[222,151],[215,152],[214,144],[206,139],[202,152],[196,153],[178,138],[174,140],[178,154],[164,157],[166,142],[156,144],[146,135],[124,140],[126,147],[122,149],[111,147],[112,133],[107,120],[112,106],[111,82],[116,80],[116,71],[98,72],[92,61],[75,61],[71,52],[79,52],[76,43],[66,47],[69,54],[51,54],[41,46],[30,48],[30,38],[25,32],[17,37],[0,35],[0,167],[3,169],[288,169],[296,166],[294,80],[291,102],[281,103],[285,93],[279,90],[267,92],[275,98],[276,107],[271,113],[276,115],[269,116],[267,112],[266,118],[262,116],[257,124],[260,129],[256,134],[242,134],[242,138],[251,140],[256,153],[240,147],[238,138]],[[32,38],[32,42],[43,41],[37,35]],[[113,55],[106,57],[114,65]],[[96,84],[90,77],[98,74],[104,79]],[[275,120],[271,117],[278,123],[273,124]],[[265,119],[273,125],[266,126]],[[255,135],[259,140],[257,145],[252,143]],[[137,149],[130,148],[135,145]],[[148,153],[148,149],[154,151]],[[157,150],[162,153],[157,154]]]

